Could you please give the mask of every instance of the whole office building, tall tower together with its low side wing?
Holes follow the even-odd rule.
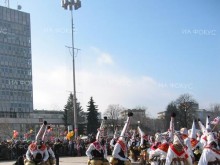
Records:
[[[62,111],[33,110],[30,14],[0,6],[0,137],[37,130],[43,120],[60,127],[62,118]]]

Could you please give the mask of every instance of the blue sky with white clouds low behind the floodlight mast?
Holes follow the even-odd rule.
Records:
[[[0,1],[1,5],[4,0]],[[62,110],[73,91],[71,13],[56,0],[13,0],[31,15],[34,109]],[[152,117],[181,94],[220,103],[219,0],[82,0],[73,11],[76,95],[146,107]]]

